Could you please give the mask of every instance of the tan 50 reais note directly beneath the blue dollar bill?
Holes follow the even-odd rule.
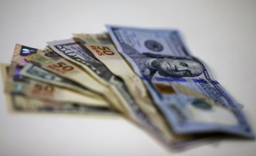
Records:
[[[116,48],[113,46],[109,35],[77,34],[74,36],[82,40],[87,49],[99,61],[104,63],[104,65],[107,66],[107,68],[109,68],[113,74],[118,75],[125,81],[127,88],[129,91],[131,91],[131,94],[136,99],[140,107],[142,107],[145,114],[151,118],[152,122],[157,125],[161,132],[165,132],[166,139],[170,144],[172,144],[172,146],[176,146],[176,148],[178,146],[184,148],[185,144],[189,146],[191,143],[202,143],[208,141],[210,138],[213,138],[213,136],[182,136],[173,134],[167,126],[167,123],[163,120],[161,114],[158,112],[156,107],[154,107],[154,104],[152,104],[152,101],[150,100],[151,97],[149,97],[147,94],[147,90],[145,90],[145,86],[143,85],[142,81],[136,74],[134,74],[129,65],[127,65],[125,59],[122,58],[122,56],[116,51]],[[93,40],[91,38],[93,38]],[[104,40],[102,38],[104,38]],[[109,42],[107,42],[107,40],[109,40]],[[108,51],[108,54],[104,54],[104,51],[99,49],[100,47],[104,47],[105,50]],[[179,88],[180,90],[183,90],[183,92],[192,92],[198,98],[204,98],[205,100],[208,100],[208,102],[212,102],[211,98],[201,95],[200,93],[196,93],[194,90],[190,90],[183,86],[179,86]]]

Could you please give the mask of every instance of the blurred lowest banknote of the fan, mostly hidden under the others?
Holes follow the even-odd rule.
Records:
[[[7,75],[10,65],[1,65],[1,76],[4,87],[7,87]],[[33,112],[33,113],[65,113],[65,114],[93,114],[93,115],[111,115],[118,116],[113,109],[105,106],[90,106],[68,102],[63,100],[54,100],[53,98],[32,98],[21,92],[6,92],[6,102],[11,111],[15,112]]]

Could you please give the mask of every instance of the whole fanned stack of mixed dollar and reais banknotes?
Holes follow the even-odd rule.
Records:
[[[174,29],[107,25],[45,49],[16,44],[2,65],[14,111],[122,115],[167,148],[212,137],[254,139],[241,105]]]

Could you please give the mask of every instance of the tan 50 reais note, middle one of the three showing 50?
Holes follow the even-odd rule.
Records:
[[[38,51],[37,57],[34,57],[30,61],[33,61],[33,63],[40,66],[40,68],[44,68],[60,77],[65,77],[66,79],[76,82],[78,86],[84,86],[84,88],[102,95],[107,102],[111,103],[109,105],[111,107],[114,107],[114,104],[117,103],[109,88],[100,85],[98,81],[93,79],[80,66],[62,58],[62,56],[52,51],[50,47],[46,47],[44,51]],[[66,85],[64,84],[63,86],[65,87]]]

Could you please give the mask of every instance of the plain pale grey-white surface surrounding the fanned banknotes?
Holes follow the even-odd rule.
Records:
[[[15,43],[43,49],[104,24],[179,28],[188,47],[243,104],[256,130],[256,1],[2,1],[0,63]],[[12,114],[0,84],[0,155],[172,155],[122,118]],[[255,141],[224,140],[175,155],[256,155]]]

